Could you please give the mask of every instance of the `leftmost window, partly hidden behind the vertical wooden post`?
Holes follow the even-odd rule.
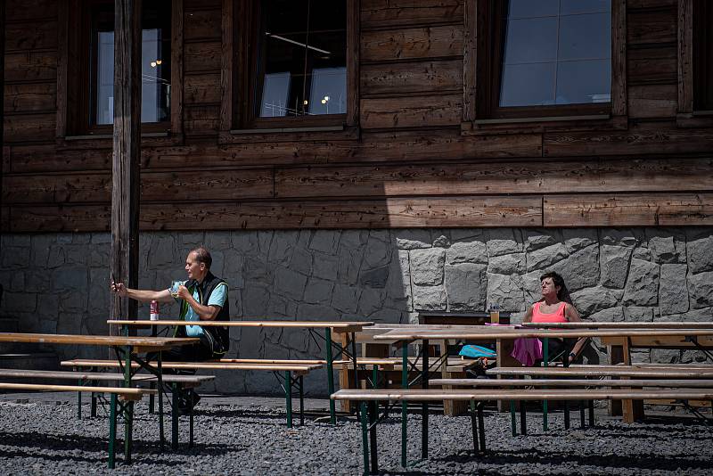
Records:
[[[183,82],[183,0],[142,4],[142,132],[170,132],[168,142],[176,144],[182,88],[171,85]],[[57,136],[106,138],[114,113],[114,3],[67,0],[59,9]]]

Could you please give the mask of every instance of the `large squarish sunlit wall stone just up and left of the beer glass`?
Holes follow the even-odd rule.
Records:
[[[446,265],[444,284],[449,311],[484,309],[488,282],[485,265],[462,263]]]

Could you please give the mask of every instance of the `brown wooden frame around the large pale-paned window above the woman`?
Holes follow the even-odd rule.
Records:
[[[611,0],[609,103],[500,107],[504,2],[465,0],[463,133],[479,129],[627,127],[626,0]]]

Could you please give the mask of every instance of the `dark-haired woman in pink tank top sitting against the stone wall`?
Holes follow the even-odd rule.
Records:
[[[540,276],[542,299],[529,307],[522,319],[523,323],[568,323],[581,322],[577,309],[572,304],[570,291],[564,284],[561,275],[555,272]],[[568,363],[573,362],[586,343],[586,338],[548,340],[548,358],[550,361],[562,359],[563,353],[569,351]]]

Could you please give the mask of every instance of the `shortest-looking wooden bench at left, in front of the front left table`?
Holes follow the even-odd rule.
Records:
[[[122,401],[133,402],[140,400],[144,395],[152,395],[157,390],[133,389],[126,387],[90,387],[84,385],[54,385],[40,383],[6,383],[0,382],[0,390],[32,390],[32,391],[78,391],[111,394],[111,406],[109,411],[109,468],[113,469],[116,461],[116,436],[117,436],[117,414]],[[129,419],[126,425],[132,425],[131,412],[127,413]],[[129,445],[131,443],[129,442]]]

